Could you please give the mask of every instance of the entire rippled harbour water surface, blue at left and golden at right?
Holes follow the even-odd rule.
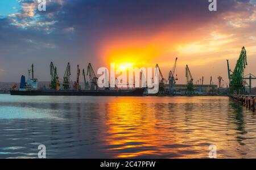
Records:
[[[0,95],[0,158],[256,158],[256,114],[228,97]]]

